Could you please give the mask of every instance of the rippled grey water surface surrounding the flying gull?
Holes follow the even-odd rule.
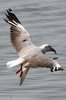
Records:
[[[48,43],[57,50],[58,62],[65,69],[30,69],[19,86],[19,69],[8,69],[6,62],[17,59],[10,42],[10,26],[3,20],[6,9],[13,9],[30,33],[36,46]],[[66,0],[0,0],[0,100],[66,100]]]

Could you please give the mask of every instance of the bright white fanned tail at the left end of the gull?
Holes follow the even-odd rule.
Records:
[[[7,62],[6,65],[8,68],[12,68],[12,67],[22,64],[23,62],[24,62],[24,59],[19,57],[17,60],[12,60],[12,61]]]

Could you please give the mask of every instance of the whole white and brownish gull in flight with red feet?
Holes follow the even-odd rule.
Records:
[[[8,68],[12,68],[20,65],[21,68],[16,72],[20,73],[20,85],[23,83],[29,68],[50,68],[50,71],[63,71],[64,69],[58,64],[57,61],[49,58],[45,55],[46,52],[53,51],[56,54],[56,50],[48,44],[44,44],[40,47],[35,46],[30,38],[30,34],[22,26],[12,9],[8,9],[6,19],[10,28],[10,39],[13,47],[16,49],[19,58],[16,60],[8,61]],[[22,68],[23,67],[23,68]]]

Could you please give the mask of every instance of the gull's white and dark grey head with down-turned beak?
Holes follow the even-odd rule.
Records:
[[[40,48],[41,48],[41,51],[43,54],[45,54],[46,52],[50,52],[50,51],[57,54],[56,50],[49,44],[44,44],[44,45],[40,46]]]

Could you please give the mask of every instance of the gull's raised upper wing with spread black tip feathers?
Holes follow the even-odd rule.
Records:
[[[5,15],[7,18],[4,20],[11,25],[11,42],[17,53],[20,55],[20,53],[22,54],[24,50],[30,49],[34,44],[31,42],[30,34],[22,26],[21,22],[18,20],[12,10],[7,10],[7,13]]]

